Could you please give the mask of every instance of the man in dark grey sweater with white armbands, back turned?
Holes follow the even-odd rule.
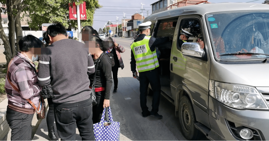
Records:
[[[61,24],[49,26],[47,34],[51,45],[40,55],[38,83],[52,86],[58,135],[61,140],[76,140],[76,123],[82,140],[95,140],[88,77],[95,68],[89,50],[68,39]]]

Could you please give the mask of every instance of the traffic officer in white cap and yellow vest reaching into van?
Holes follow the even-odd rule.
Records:
[[[130,64],[131,71],[133,72],[133,77],[136,78],[137,76],[136,67],[140,75],[140,106],[142,109],[142,116],[147,117],[152,115],[156,118],[161,119],[162,115],[158,114],[161,84],[159,71],[157,68],[159,67],[159,62],[157,59],[155,46],[169,41],[169,37],[154,38],[150,36],[150,21],[139,24],[137,26],[139,27],[140,34],[138,38],[135,39],[130,45],[132,49]],[[147,107],[147,90],[149,83],[153,90],[151,112],[148,111]]]

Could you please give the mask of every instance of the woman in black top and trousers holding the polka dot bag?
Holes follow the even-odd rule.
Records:
[[[110,90],[112,87],[111,61],[103,41],[98,36],[93,36],[95,48],[90,48],[96,68],[96,75],[89,75],[90,85],[95,81],[95,96],[97,104],[93,106],[93,124],[100,122],[104,107],[109,107]],[[95,77],[95,80],[94,80]]]

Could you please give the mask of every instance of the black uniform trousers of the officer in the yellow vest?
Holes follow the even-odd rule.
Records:
[[[159,76],[158,71],[159,69],[155,68],[154,70],[144,71],[144,72],[139,73],[140,106],[142,109],[142,115],[146,115],[149,112],[148,107],[147,107],[148,84],[150,84],[153,90],[151,114],[156,114],[159,111],[161,84],[160,84],[160,76]]]

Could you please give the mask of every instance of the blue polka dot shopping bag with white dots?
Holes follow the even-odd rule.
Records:
[[[105,118],[108,110],[108,121]],[[93,124],[95,140],[119,140],[120,122],[113,121],[110,107],[104,108],[101,121]]]

